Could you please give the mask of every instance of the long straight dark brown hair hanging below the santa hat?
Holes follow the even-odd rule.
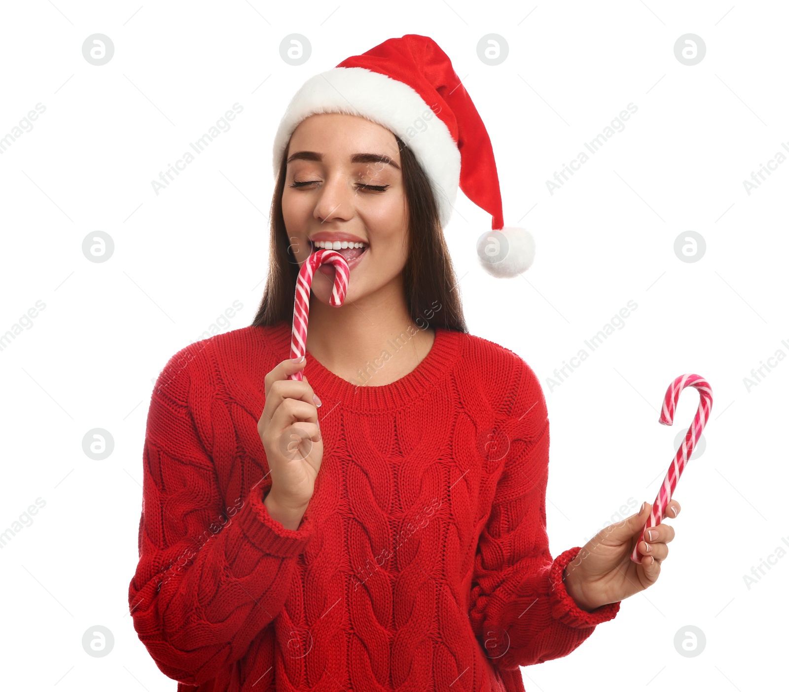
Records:
[[[406,306],[411,319],[421,328],[443,327],[468,333],[447,241],[439,221],[436,197],[406,144],[394,136],[400,150],[402,178],[409,210],[409,251],[402,270]],[[252,327],[270,326],[293,320],[294,294],[299,265],[291,253],[282,192],[285,190],[287,155],[282,154],[279,175],[271,199],[268,277]]]

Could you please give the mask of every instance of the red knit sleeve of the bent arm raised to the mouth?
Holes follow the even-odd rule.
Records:
[[[183,353],[159,376],[148,410],[129,609],[159,669],[196,686],[241,659],[282,610],[313,526],[309,510],[296,530],[271,518],[263,502],[271,481],[235,501],[222,498],[189,406],[211,411],[204,397],[213,392],[199,372],[174,365]],[[204,425],[214,439],[235,440],[218,421]]]

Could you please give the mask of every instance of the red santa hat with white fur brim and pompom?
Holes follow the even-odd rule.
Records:
[[[504,226],[488,131],[450,59],[433,39],[417,34],[387,39],[307,80],[277,129],[275,177],[294,129],[318,113],[359,115],[400,137],[430,180],[443,227],[449,223],[458,185],[492,215],[492,231],[477,241],[477,256],[489,274],[511,277],[531,266],[532,235]]]

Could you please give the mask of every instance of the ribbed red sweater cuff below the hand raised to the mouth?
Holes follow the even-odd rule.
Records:
[[[280,557],[292,557],[304,552],[312,538],[312,514],[307,508],[298,529],[286,529],[276,519],[271,518],[264,504],[264,494],[271,486],[252,488],[246,506],[238,512],[237,522],[252,543],[262,552]]]

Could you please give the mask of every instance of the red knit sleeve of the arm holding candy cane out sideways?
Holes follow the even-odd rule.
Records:
[[[513,411],[502,427],[510,447],[477,546],[469,612],[486,655],[502,670],[567,656],[597,624],[613,619],[621,603],[586,612],[565,589],[564,567],[581,548],[555,559],[548,550],[548,409],[524,361],[513,380]]]

